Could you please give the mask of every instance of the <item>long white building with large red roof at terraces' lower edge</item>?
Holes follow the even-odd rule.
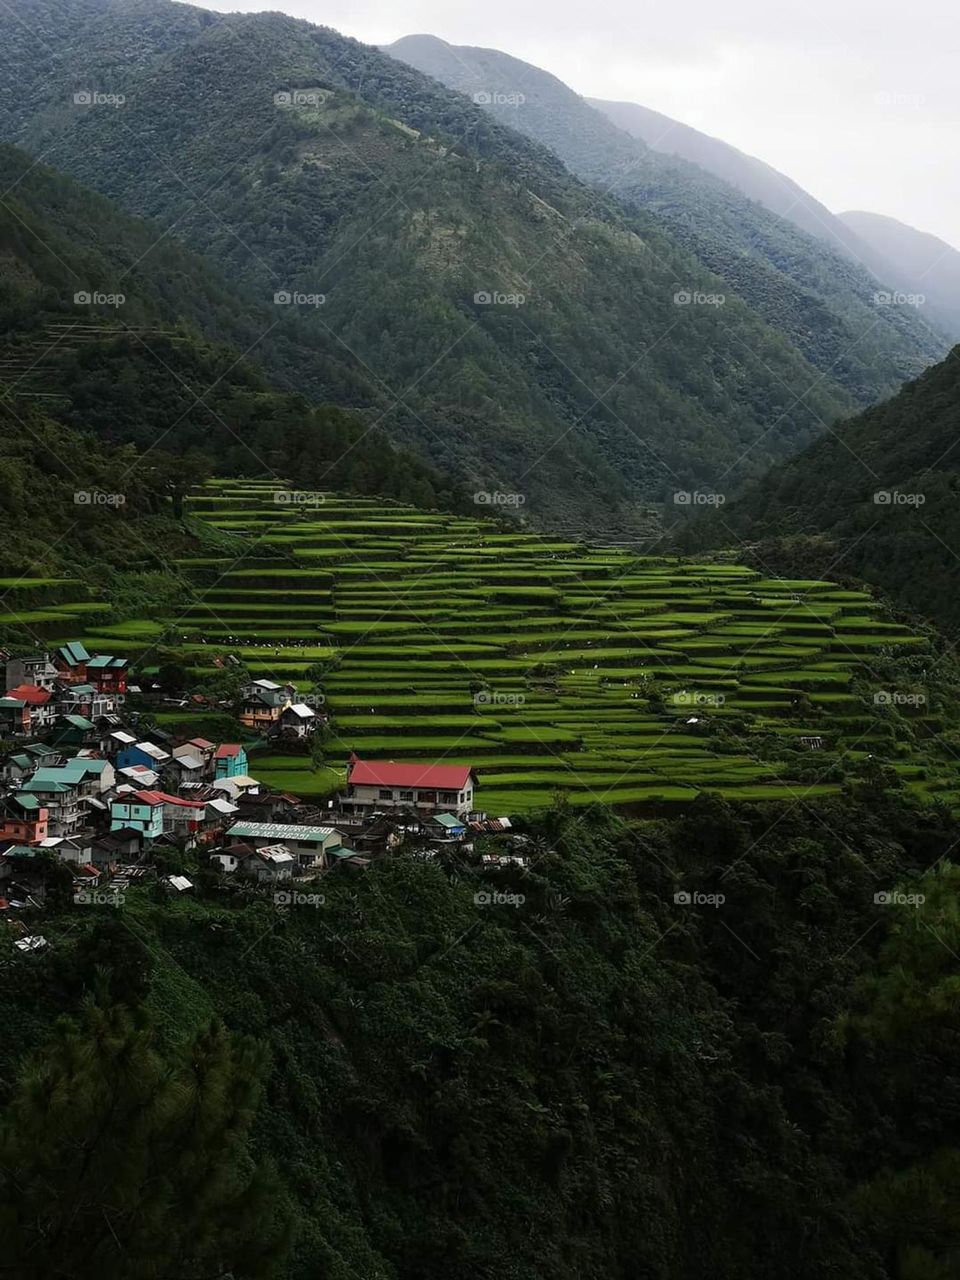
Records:
[[[476,774],[468,764],[361,760],[352,755],[347,767],[347,813],[412,810],[419,814],[454,813],[466,817],[474,808]]]

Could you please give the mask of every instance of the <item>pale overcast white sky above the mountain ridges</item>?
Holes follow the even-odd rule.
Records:
[[[369,44],[430,32],[655,108],[756,155],[829,209],[960,248],[957,0],[200,0],[282,9]]]

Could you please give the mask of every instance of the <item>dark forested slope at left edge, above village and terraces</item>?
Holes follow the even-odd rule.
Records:
[[[375,421],[292,389],[307,365],[314,399],[362,399],[369,380],[348,353],[307,348],[280,308],[13,147],[0,147],[0,398],[14,433],[15,415],[42,410],[148,451],[147,468],[157,447],[200,449],[206,467],[230,474],[462,503],[448,476],[393,449]],[[262,352],[279,385],[257,367]],[[50,466],[41,451],[31,462]],[[182,486],[196,479],[180,468]]]

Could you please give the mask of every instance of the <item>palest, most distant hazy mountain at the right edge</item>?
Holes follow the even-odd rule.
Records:
[[[920,294],[924,315],[960,338],[960,252],[952,244],[882,214],[846,212],[841,221],[864,246],[864,260],[884,265],[886,279]]]

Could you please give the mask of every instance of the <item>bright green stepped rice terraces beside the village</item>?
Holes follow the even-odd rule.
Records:
[[[269,483],[214,481],[191,508],[244,534],[248,553],[183,563],[195,594],[178,617],[95,622],[86,641],[156,662],[164,636],[197,673],[229,653],[303,690],[321,663],[330,768],[252,765],[289,790],[325,794],[357,751],[471,763],[488,812],[558,791],[573,804],[782,799],[836,791],[873,754],[954,799],[936,709],[909,703],[902,677],[928,641],[864,593],[376,499],[278,500]],[[874,701],[891,664],[896,708]]]

